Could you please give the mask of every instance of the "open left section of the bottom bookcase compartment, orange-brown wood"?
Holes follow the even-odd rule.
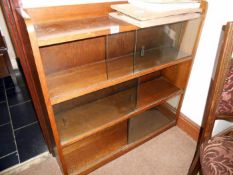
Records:
[[[127,145],[127,122],[110,127],[63,149],[68,172],[78,174]]]

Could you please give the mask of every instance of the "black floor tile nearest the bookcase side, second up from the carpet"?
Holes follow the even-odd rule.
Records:
[[[13,128],[17,129],[37,121],[32,102],[26,102],[10,108]]]

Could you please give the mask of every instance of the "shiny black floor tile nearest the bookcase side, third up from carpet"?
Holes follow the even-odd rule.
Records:
[[[16,86],[14,88],[7,89],[6,93],[10,106],[30,100],[26,87]]]

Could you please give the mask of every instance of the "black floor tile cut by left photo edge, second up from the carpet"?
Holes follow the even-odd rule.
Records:
[[[0,157],[16,150],[11,125],[0,126]]]

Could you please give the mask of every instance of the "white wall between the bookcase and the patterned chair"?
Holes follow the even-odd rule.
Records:
[[[221,28],[233,21],[232,0],[208,0],[209,9],[181,112],[198,125],[202,122]],[[226,123],[217,123],[218,130]]]

